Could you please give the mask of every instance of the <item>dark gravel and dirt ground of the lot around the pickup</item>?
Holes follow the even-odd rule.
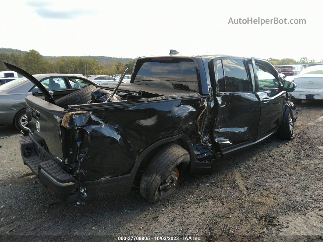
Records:
[[[57,201],[23,165],[19,132],[1,126],[1,240],[323,240],[323,102],[303,101],[297,110],[294,140],[273,137],[221,160],[212,175],[186,177],[156,204],[139,191],[85,205]]]

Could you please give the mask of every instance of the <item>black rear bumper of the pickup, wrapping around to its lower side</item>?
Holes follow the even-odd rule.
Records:
[[[20,136],[19,142],[24,164],[36,175],[41,184],[61,201],[78,202],[121,195],[128,193],[132,187],[133,173],[96,181],[78,182],[43,149],[40,137],[28,134]],[[81,187],[86,195],[79,192]]]

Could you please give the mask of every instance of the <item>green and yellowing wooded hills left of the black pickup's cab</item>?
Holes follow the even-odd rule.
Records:
[[[95,59],[69,57],[53,61],[44,59],[38,51],[31,49],[24,54],[1,52],[0,71],[7,70],[3,62],[13,64],[33,75],[42,73],[78,73],[88,76],[122,74],[127,67],[129,67],[127,74],[131,74],[135,60],[132,59],[127,63],[118,60],[102,64]]]

